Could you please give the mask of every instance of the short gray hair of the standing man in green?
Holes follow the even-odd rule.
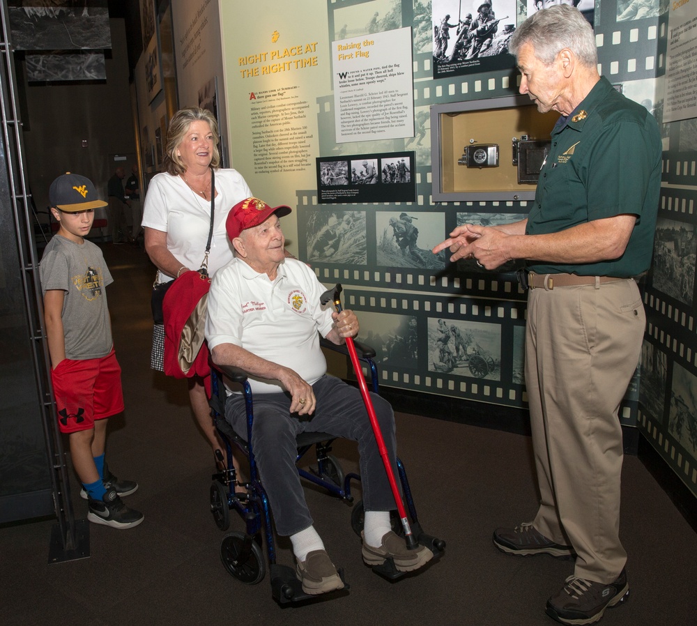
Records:
[[[598,64],[593,29],[581,12],[568,4],[551,6],[530,15],[516,29],[508,49],[517,56],[526,43],[533,46],[535,56],[545,65],[552,63],[564,48],[569,48],[585,66],[595,68]]]

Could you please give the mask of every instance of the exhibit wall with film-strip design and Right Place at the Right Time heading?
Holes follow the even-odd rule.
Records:
[[[503,55],[496,62],[453,65],[453,71],[434,59],[434,25],[446,10],[457,15],[457,5],[449,0],[219,2],[231,161],[256,195],[269,204],[293,206],[283,223],[289,247],[322,282],[343,284],[344,304],[361,319],[360,339],[378,350],[382,385],[453,402],[525,408],[526,296],[512,268],[484,272],[427,254],[465,221],[496,224],[528,213],[526,201],[432,200],[431,153],[437,146],[431,142],[438,136],[429,128],[431,106],[512,96],[519,80],[514,61],[505,66]],[[530,10],[505,0],[494,0],[493,8],[498,16],[511,6],[519,22]],[[610,0],[595,6],[592,19],[599,69],[657,117],[664,141],[654,267],[641,280],[648,328],[641,367],[620,419],[637,425],[697,495],[697,126],[695,119],[662,123],[668,8],[656,1],[648,12],[627,17],[625,8]],[[402,137],[376,133],[375,139],[337,139],[337,116],[344,115],[335,109],[337,41],[372,43],[381,33],[404,28],[411,29],[411,49],[403,56],[413,89],[413,131]],[[465,144],[466,138],[454,141]],[[318,159],[351,164],[357,155],[396,153],[413,153],[413,199],[323,201]],[[402,213],[418,226],[416,254],[404,254],[392,239],[390,220]],[[470,354],[484,365],[475,367],[479,361],[468,356],[445,364],[438,353],[442,328],[466,337]]]

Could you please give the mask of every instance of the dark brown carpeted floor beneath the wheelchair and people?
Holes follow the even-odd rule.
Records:
[[[126,411],[112,419],[109,467],[137,480],[128,504],[145,514],[137,528],[89,525],[91,556],[48,563],[54,521],[0,528],[0,623],[5,626],[337,624],[550,625],[547,598],[573,571],[570,561],[516,558],[491,542],[496,526],[533,517],[530,440],[418,415],[397,415],[403,459],[424,530],[447,542],[443,558],[390,583],[363,565],[351,509],[307,489],[316,528],[344,567],[348,595],[280,608],[269,577],[256,586],[233,579],[220,560],[225,533],[210,514],[213,459],[194,427],[185,383],[148,369],[154,269],[135,247],[102,246],[114,275],[107,289]],[[491,407],[491,411],[496,411]],[[466,418],[466,416],[464,416]],[[339,442],[346,471],[355,445]],[[86,503],[72,499],[77,517]],[[243,530],[233,514],[231,530]],[[641,461],[623,471],[622,539],[629,553],[630,597],[608,611],[608,626],[697,623],[697,535]],[[279,563],[291,565],[288,542]]]

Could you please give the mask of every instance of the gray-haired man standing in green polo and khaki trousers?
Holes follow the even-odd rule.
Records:
[[[661,185],[661,137],[644,107],[597,72],[590,24],[568,5],[533,14],[510,42],[520,92],[561,117],[526,220],[464,224],[434,248],[493,269],[525,259],[529,287],[526,388],[540,490],[533,521],[498,528],[519,556],[576,555],[546,605],[589,624],[629,593],[618,536],[622,429],[645,314],[635,276],[651,263]]]

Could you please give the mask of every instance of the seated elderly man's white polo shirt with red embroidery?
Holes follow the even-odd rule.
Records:
[[[321,307],[325,287],[302,261],[285,259],[276,280],[240,259],[217,270],[208,293],[206,339],[212,350],[234,344],[289,367],[314,384],[327,371],[319,346],[332,329],[331,304]],[[278,381],[250,377],[255,393],[282,392]]]

